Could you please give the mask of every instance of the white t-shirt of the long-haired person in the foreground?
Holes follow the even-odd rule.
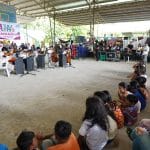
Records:
[[[90,128],[91,121],[83,121],[79,134],[86,138],[90,150],[102,150],[108,141],[108,134],[97,124]]]

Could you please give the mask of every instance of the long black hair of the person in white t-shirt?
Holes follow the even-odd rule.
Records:
[[[104,103],[97,96],[88,97],[86,99],[86,111],[83,117],[83,121],[89,119],[92,121],[90,127],[97,124],[103,130],[108,130],[108,118]]]

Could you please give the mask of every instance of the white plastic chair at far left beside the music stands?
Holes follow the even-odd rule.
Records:
[[[8,59],[7,58],[2,58],[0,59],[0,70],[4,70],[7,74],[8,77],[10,77],[10,71],[8,69]]]

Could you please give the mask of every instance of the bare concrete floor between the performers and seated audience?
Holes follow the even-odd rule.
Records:
[[[53,132],[57,120],[72,123],[78,134],[85,111],[85,100],[96,90],[109,90],[117,99],[117,85],[128,81],[133,62],[96,62],[74,60],[75,68],[46,68],[36,76],[0,75],[0,143],[15,147],[18,134],[24,130]],[[147,67],[150,74],[150,64]],[[148,80],[150,87],[150,80]],[[150,107],[140,114],[149,118]],[[119,130],[119,146],[111,150],[130,150],[125,129]]]

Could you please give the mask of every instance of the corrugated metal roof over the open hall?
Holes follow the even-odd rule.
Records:
[[[150,0],[0,0],[19,16],[54,16],[65,25],[88,25],[150,20]],[[94,13],[93,13],[94,12]]]

